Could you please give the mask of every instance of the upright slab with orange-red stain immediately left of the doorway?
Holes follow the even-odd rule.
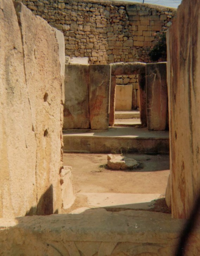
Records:
[[[90,126],[105,130],[109,127],[110,65],[90,65]]]

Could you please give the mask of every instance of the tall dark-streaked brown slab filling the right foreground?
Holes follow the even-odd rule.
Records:
[[[188,218],[199,194],[199,12],[199,1],[183,0],[169,28],[167,39],[171,196],[174,218]]]

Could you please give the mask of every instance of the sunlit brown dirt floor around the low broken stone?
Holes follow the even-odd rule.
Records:
[[[72,209],[88,207],[80,193],[161,194],[152,211],[169,213],[164,194],[169,175],[168,155],[125,154],[140,163],[135,170],[107,168],[107,154],[64,153],[64,165],[72,166],[76,201]],[[117,209],[115,209],[116,211]]]

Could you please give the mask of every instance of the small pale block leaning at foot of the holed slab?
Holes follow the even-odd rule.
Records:
[[[74,203],[75,200],[75,194],[73,190],[72,167],[64,166],[60,175],[60,184],[62,190],[62,206],[63,209],[67,209]]]

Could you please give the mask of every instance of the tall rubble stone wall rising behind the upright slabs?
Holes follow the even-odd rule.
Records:
[[[149,63],[155,33],[166,30],[176,9],[119,1],[22,0],[64,33],[65,55],[90,64]]]

